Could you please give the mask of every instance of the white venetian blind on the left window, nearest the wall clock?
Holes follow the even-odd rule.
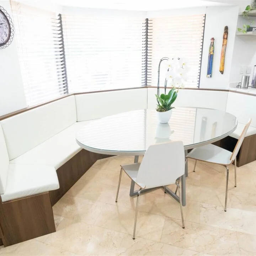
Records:
[[[28,106],[67,93],[60,15],[11,1]]]

